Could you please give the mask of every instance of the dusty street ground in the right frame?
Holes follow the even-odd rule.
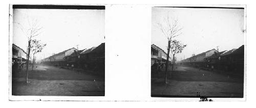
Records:
[[[168,78],[152,78],[153,97],[243,97],[243,76],[179,66]]]

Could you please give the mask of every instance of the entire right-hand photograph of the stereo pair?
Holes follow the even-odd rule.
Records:
[[[152,7],[151,97],[244,98],[245,6]]]

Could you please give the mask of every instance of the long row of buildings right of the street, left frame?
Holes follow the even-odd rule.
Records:
[[[77,50],[70,48],[41,60],[41,63],[52,66],[96,69],[104,71],[105,43],[90,49]]]

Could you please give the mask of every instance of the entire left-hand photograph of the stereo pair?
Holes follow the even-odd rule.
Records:
[[[9,96],[104,96],[104,27],[105,6],[10,5]]]

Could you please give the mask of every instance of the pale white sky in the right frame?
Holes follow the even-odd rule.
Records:
[[[167,17],[178,18],[182,34],[175,39],[187,47],[178,60],[211,49],[231,50],[244,45],[244,10],[217,8],[152,8],[152,44],[167,52],[167,38],[156,25]]]

